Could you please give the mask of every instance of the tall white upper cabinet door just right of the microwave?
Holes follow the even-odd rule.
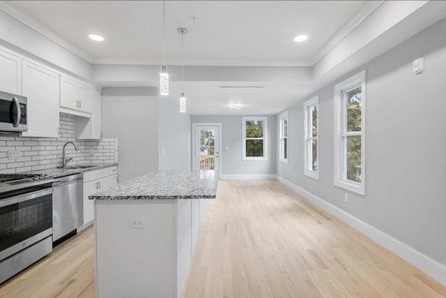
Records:
[[[28,98],[26,137],[59,137],[59,75],[22,61],[22,90]]]

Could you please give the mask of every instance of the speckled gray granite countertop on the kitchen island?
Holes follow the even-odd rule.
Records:
[[[215,199],[215,171],[159,171],[89,196],[90,200]]]

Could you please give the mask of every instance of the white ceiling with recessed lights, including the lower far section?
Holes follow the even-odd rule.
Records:
[[[185,68],[184,91],[190,114],[277,114],[397,45],[403,41],[400,36],[408,38],[444,17],[444,13],[436,13],[444,10],[437,3],[166,1],[169,98],[178,104],[183,91],[178,27],[189,30],[185,65],[190,66]],[[367,23],[367,16],[378,6],[382,9]],[[96,83],[105,87],[157,87],[162,64],[162,1],[0,1],[0,8],[95,64]],[[417,13],[408,17],[412,12]],[[408,21],[403,27],[386,27],[405,17]],[[363,25],[364,20],[370,27]],[[354,28],[355,38],[346,38]],[[378,38],[389,32],[385,36],[390,40],[384,35]],[[93,42],[89,33],[98,33],[105,41]],[[298,34],[309,38],[295,43],[293,38]],[[359,49],[362,54],[357,55]],[[349,60],[348,53],[356,56]],[[223,85],[263,88],[218,88]],[[229,110],[231,103],[242,104],[243,110]]]

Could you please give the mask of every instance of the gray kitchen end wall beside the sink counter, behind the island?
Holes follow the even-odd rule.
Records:
[[[102,136],[118,139],[120,182],[157,170],[157,117],[150,88],[102,89]]]

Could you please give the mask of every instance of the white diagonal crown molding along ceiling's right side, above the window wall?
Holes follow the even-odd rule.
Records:
[[[371,13],[378,8],[384,1],[367,1],[357,12],[348,20],[334,35],[325,43],[310,60],[311,66],[314,66],[319,59],[325,56],[332,48],[337,45],[353,29],[362,23]]]

